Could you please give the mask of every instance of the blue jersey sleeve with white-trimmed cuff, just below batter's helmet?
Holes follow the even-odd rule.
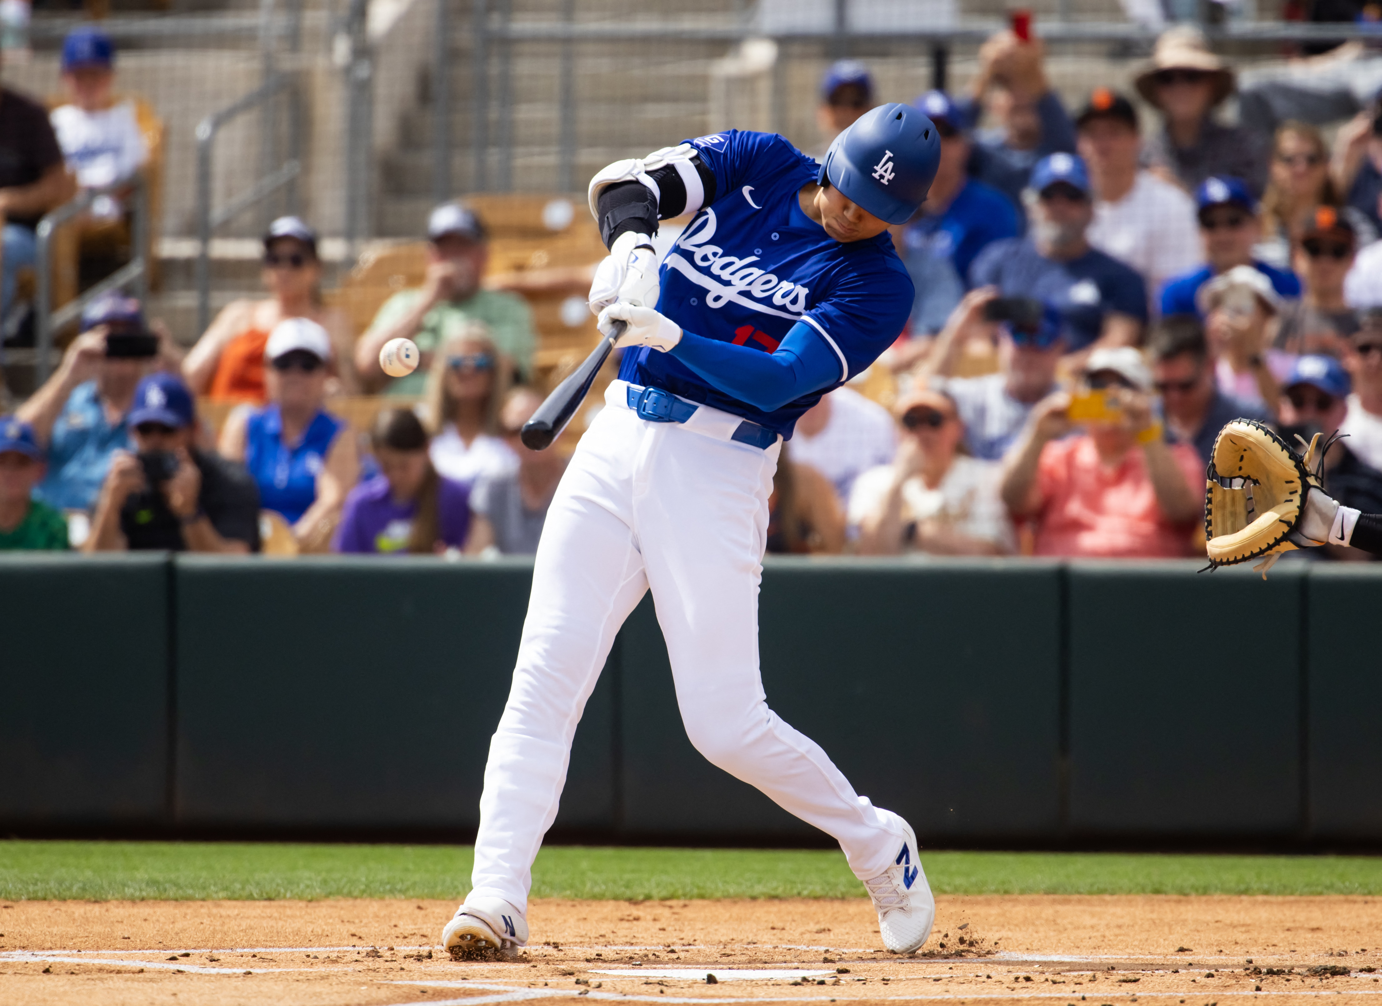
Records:
[[[876,268],[843,272],[826,296],[807,308],[802,322],[835,352],[843,383],[867,370],[897,341],[915,297],[902,264],[883,260]]]

